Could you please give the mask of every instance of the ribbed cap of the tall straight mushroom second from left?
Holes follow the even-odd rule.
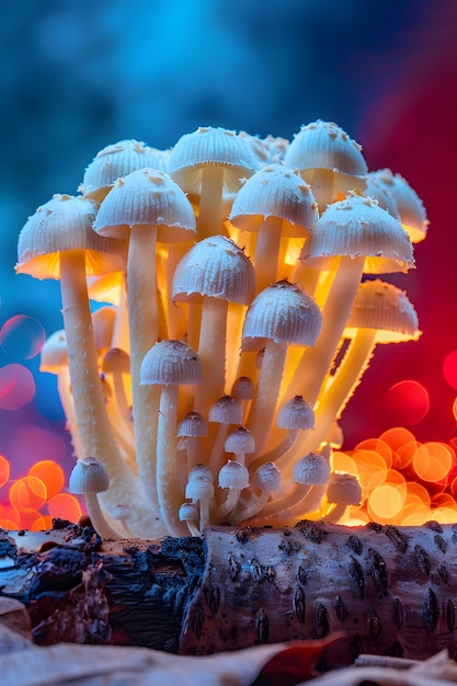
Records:
[[[195,215],[185,193],[165,173],[145,168],[118,179],[100,205],[94,229],[128,238],[134,226],[157,226],[159,242],[185,241],[195,235]]]

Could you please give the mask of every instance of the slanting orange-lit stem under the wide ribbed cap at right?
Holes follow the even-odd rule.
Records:
[[[304,396],[315,404],[340,342],[361,283],[364,256],[343,255],[322,309],[322,331],[307,347],[287,388],[287,397]]]

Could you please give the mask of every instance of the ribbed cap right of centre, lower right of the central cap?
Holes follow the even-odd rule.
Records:
[[[244,318],[243,350],[259,350],[266,339],[276,343],[315,345],[322,327],[316,301],[298,284],[281,281],[261,290]]]

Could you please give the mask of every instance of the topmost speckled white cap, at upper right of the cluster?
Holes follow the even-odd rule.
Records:
[[[290,141],[284,161],[288,167],[296,167],[308,183],[311,178],[307,179],[307,171],[315,169],[332,170],[351,176],[354,182],[368,171],[362,147],[340,126],[321,119],[301,126]]]

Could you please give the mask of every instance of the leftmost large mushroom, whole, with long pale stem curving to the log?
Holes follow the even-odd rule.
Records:
[[[83,456],[102,461],[110,488],[102,503],[112,511],[136,502],[128,522],[139,535],[158,535],[138,480],[125,465],[106,416],[89,307],[87,274],[122,271],[125,241],[92,230],[95,203],[80,196],[55,195],[28,218],[19,237],[16,272],[36,278],[60,278],[64,325],[75,414]],[[148,533],[148,534],[147,534]],[[160,535],[160,534],[159,534]]]

